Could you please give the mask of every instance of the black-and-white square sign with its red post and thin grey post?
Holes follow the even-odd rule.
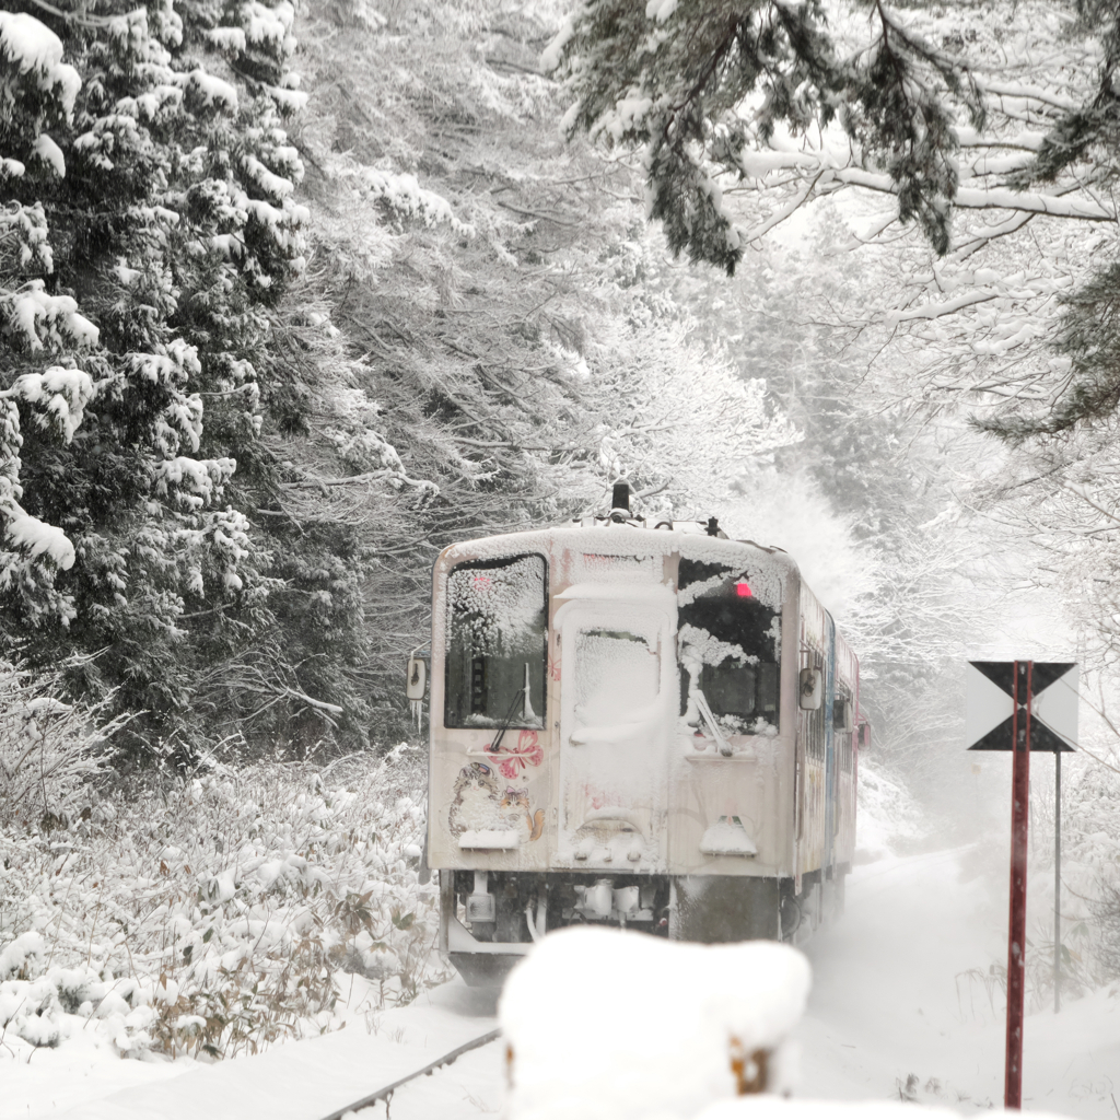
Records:
[[[1077,734],[1077,666],[1056,661],[972,661],[967,678],[965,729],[969,750],[1011,752],[1011,883],[1007,932],[1007,1058],[1004,1107],[1023,1104],[1023,1014],[1027,946],[1027,821],[1030,812],[1030,752],[1072,750]],[[1061,774],[1061,771],[1057,771]],[[1057,787],[1061,796],[1061,786]],[[1055,806],[1061,828],[1061,805]],[[1055,837],[1055,865],[1061,834]],[[1055,895],[1061,869],[1055,867]],[[1060,926],[1054,902],[1054,989],[1057,1007]]]

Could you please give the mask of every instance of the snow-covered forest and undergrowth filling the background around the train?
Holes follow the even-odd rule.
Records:
[[[1109,0],[4,0],[0,1096],[448,982],[432,562],[620,477],[834,615],[859,858],[956,852],[973,1009],[1009,763],[963,664],[1080,663],[1062,995],[1114,1010],[1118,66]]]

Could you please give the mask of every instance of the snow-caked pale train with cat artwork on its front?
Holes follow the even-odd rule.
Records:
[[[426,860],[468,983],[573,923],[800,941],[842,905],[856,656],[781,549],[613,505],[435,564]]]

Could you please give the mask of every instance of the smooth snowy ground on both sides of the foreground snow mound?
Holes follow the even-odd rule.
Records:
[[[989,1000],[980,979],[1002,951],[1004,904],[990,889],[1001,861],[1001,852],[981,844],[881,856],[856,869],[846,917],[806,946],[813,989],[797,1029],[799,1096],[902,1096],[961,1112],[1001,1104],[1002,1007],[998,990]],[[270,1120],[317,1120],[495,1024],[493,997],[459,981],[376,1017],[361,1010],[370,1004],[363,981],[356,984],[345,1030],[211,1067],[122,1061],[108,1043],[99,1048],[85,1037],[80,1020],[57,1049],[32,1051],[9,1038],[0,1046],[0,1120],[243,1120],[250,1102],[252,1114]],[[1116,1120],[1120,992],[1072,1002],[1057,1017],[1032,1014],[1024,1070],[1028,1110]],[[503,1084],[502,1046],[492,1044],[402,1088],[391,1114],[460,1120],[494,1113]],[[264,1099],[271,1101],[267,1113]],[[363,1116],[384,1113],[379,1105]]]

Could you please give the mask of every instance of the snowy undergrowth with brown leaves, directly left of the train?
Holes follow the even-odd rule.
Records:
[[[64,829],[4,830],[0,1029],[54,1045],[69,1012],[122,1055],[220,1057],[339,1026],[346,970],[408,1002],[442,974],[422,790],[401,747],[134,783]]]

